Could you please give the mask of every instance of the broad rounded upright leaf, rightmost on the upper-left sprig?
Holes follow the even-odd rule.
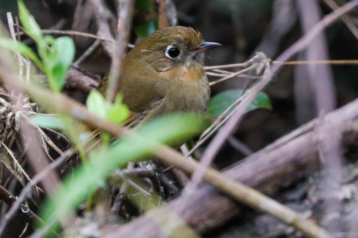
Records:
[[[66,75],[72,64],[75,54],[75,47],[71,37],[62,36],[57,38],[51,46],[50,55],[55,59],[49,59],[54,62],[53,75],[54,87],[56,92],[61,92],[66,82]]]

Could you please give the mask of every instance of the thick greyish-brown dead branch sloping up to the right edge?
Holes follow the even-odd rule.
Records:
[[[356,142],[358,136],[358,100],[328,113],[324,121],[337,127],[342,135],[343,145]],[[280,189],[290,186],[301,178],[308,176],[320,167],[318,158],[318,140],[313,131],[318,119],[297,128],[262,150],[247,157],[223,174],[250,187],[273,196]],[[224,158],[222,158],[224,159]],[[171,201],[173,208],[182,203],[183,197]],[[237,216],[242,205],[223,196],[209,185],[202,185],[192,194],[182,218],[197,231],[204,233],[216,228]],[[159,237],[158,223],[153,222],[153,212],[145,214],[125,226],[104,232],[102,237]],[[108,230],[108,228],[104,228]]]

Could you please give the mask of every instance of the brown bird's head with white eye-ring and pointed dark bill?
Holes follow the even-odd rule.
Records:
[[[190,27],[173,26],[158,30],[144,38],[128,54],[149,63],[156,71],[203,67],[205,51],[221,46],[204,42],[200,33]]]

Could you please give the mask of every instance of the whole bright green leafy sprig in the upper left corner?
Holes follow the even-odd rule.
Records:
[[[23,1],[18,1],[18,7],[21,24],[26,34],[35,41],[38,55],[27,45],[11,38],[1,38],[0,46],[28,57],[47,76],[50,88],[54,92],[61,92],[66,82],[67,71],[74,59],[73,40],[68,36],[57,39],[49,35],[44,36]]]

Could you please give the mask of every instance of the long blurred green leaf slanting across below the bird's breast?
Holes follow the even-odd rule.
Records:
[[[155,142],[173,143],[196,135],[199,123],[195,115],[168,115],[145,123],[136,130],[136,135],[125,136],[108,149],[91,153],[88,163],[67,176],[53,200],[45,203],[42,218],[47,224],[57,224],[93,193],[114,168],[148,159],[154,153]]]

